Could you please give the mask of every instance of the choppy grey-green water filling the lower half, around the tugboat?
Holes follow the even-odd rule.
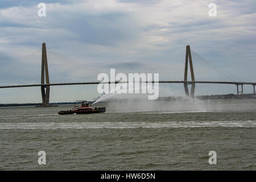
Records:
[[[0,169],[255,170],[256,100],[190,104],[164,111],[112,104],[88,115],[57,114],[72,105],[0,107]],[[217,165],[208,163],[212,150]]]

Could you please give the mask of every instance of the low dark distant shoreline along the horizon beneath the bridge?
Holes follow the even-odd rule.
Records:
[[[230,99],[237,98],[237,94],[222,94],[222,95],[210,95],[210,96],[195,96],[199,100],[216,100],[216,99]],[[241,97],[241,95],[240,95]],[[156,101],[172,101],[177,100],[180,97],[159,97]],[[243,98],[254,98],[253,94],[243,94]],[[112,99],[110,99],[112,100]],[[89,101],[91,104],[93,101]],[[76,102],[79,104],[80,102]],[[53,102],[51,105],[65,105],[65,104],[74,104],[74,102]],[[0,104],[0,107],[13,107],[13,106],[37,106],[42,105],[42,103],[27,103],[27,104]]]

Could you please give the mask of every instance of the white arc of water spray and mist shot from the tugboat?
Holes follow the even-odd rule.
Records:
[[[159,100],[148,100],[148,94],[108,93],[104,94],[94,104],[104,103],[108,111],[205,111],[204,104],[197,98],[174,97],[172,92],[165,88],[159,89]],[[141,88],[137,88],[141,90]],[[161,97],[170,97],[168,98]]]

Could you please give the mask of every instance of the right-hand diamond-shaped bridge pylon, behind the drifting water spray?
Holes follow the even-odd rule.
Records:
[[[187,80],[188,80],[188,60],[189,60],[189,67],[190,67],[192,83],[187,83]],[[190,46],[186,46],[185,71],[184,71],[184,89],[185,89],[185,94],[187,96],[189,96],[188,84],[191,84],[190,97],[194,97],[196,84],[195,84],[195,75],[194,75],[194,70],[193,70]]]

